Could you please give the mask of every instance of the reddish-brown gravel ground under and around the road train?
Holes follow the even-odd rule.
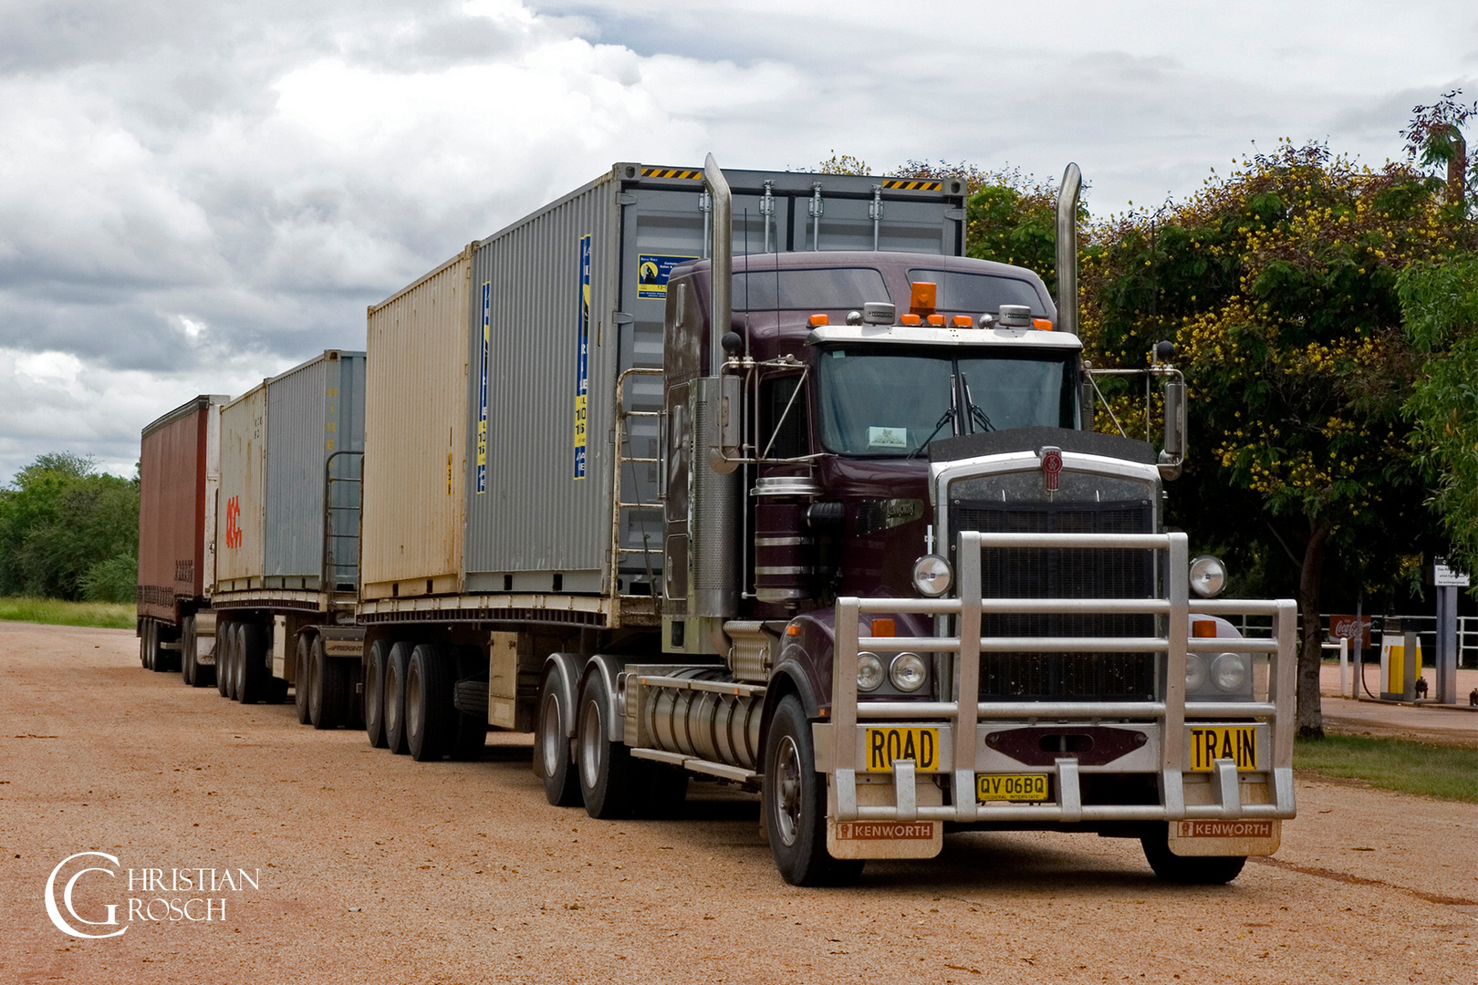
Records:
[[[1137,842],[974,833],[806,890],[717,786],[591,821],[545,803],[523,735],[415,763],[143,670],[127,632],[0,647],[0,982],[1478,982],[1472,805],[1301,777],[1283,849],[1230,886],[1162,885]],[[117,862],[61,867],[56,913],[118,936],[47,914],[78,852]]]

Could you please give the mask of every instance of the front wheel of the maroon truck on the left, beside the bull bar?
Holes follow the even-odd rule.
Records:
[[[862,874],[862,861],[826,851],[826,781],[794,694],[780,699],[764,743],[764,821],[774,867],[792,886],[842,886]]]

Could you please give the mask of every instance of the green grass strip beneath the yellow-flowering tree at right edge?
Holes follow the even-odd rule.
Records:
[[[1293,766],[1326,777],[1420,797],[1478,803],[1478,749],[1426,746],[1400,738],[1299,738]]]

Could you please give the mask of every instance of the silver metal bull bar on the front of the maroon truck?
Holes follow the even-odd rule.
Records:
[[[990,548],[1088,548],[1153,549],[1168,554],[1165,598],[1088,600],[1088,598],[981,598],[981,551]],[[1273,636],[1191,638],[1188,548],[1184,533],[1163,535],[1061,535],[1061,533],[959,533],[958,588],[955,598],[838,598],[835,651],[832,665],[829,766],[835,790],[837,821],[1181,821],[1200,818],[1292,818],[1293,808],[1293,731],[1296,669],[1295,638],[1298,611],[1292,600],[1197,600],[1194,610],[1208,616],[1270,616]],[[865,613],[916,613],[953,616],[956,636],[862,636]],[[1088,638],[1032,636],[981,638],[984,613],[1098,614],[1129,613],[1163,616],[1163,636]],[[859,701],[857,653],[900,653],[905,650],[956,654],[953,693],[959,701]],[[1163,653],[1163,700],[1157,701],[980,701],[981,654],[992,653]],[[1185,656],[1200,651],[1239,651],[1268,654],[1267,700],[1264,701],[1187,701]],[[1256,694],[1256,693],[1255,693]],[[970,699],[974,700],[970,700]],[[975,800],[975,761],[980,737],[977,725],[987,719],[1048,719],[1073,722],[1089,719],[1153,721],[1160,732],[1157,805],[1085,805],[1076,758],[1058,758],[1048,772],[1058,780],[1055,805],[980,805]],[[1255,719],[1271,731],[1271,803],[1243,803],[1237,765],[1216,759],[1210,783],[1213,803],[1185,803],[1184,763],[1185,722],[1215,724],[1227,719]],[[859,722],[947,724],[950,738],[949,792],[952,803],[918,805],[915,763],[896,761],[893,780],[896,803],[857,803]]]

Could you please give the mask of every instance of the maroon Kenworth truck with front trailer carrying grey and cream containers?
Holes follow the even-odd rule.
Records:
[[[371,307],[334,721],[415,759],[532,728],[597,818],[740,784],[798,885],[946,830],[1137,837],[1176,882],[1276,852],[1295,605],[1216,600],[1165,530],[1185,385],[1169,343],[1082,359],[1077,191],[1063,304],[962,255],[962,182],[709,157],[616,164]],[[1104,372],[1160,396],[1159,447],[1094,430]],[[247,659],[291,678],[321,631]]]

